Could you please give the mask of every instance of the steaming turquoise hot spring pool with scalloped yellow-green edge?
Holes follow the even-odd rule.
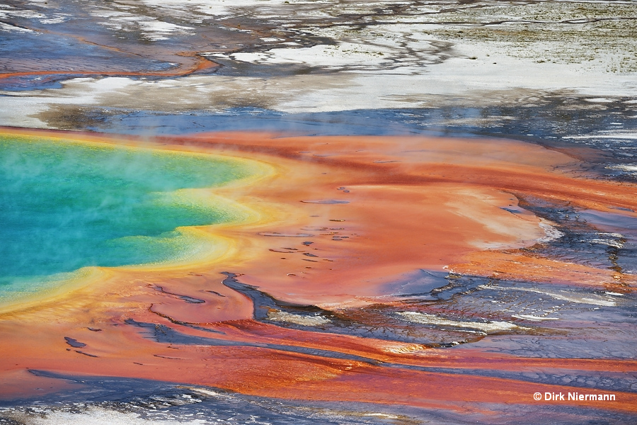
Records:
[[[183,259],[192,237],[176,227],[241,212],[179,190],[254,172],[205,154],[0,135],[0,298],[85,266]]]

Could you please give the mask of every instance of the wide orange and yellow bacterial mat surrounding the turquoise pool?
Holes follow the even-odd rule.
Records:
[[[271,164],[275,175],[217,191],[257,211],[258,220],[215,228],[232,241],[218,259],[172,269],[112,269],[91,285],[2,314],[0,357],[6,361],[0,375],[42,369],[212,385],[268,397],[486,412],[490,407],[483,403],[536,404],[534,392],[582,389],[481,376],[485,370],[637,371],[632,360],[449,351],[285,329],[254,320],[263,306],[224,285],[220,274],[241,273],[241,283],[278,300],[334,311],[391,305],[396,300],[387,285],[418,269],[449,267],[476,276],[615,290],[612,271],[518,251],[546,237],[539,226],[546,222],[518,208],[515,194],[607,211],[636,208],[633,185],[578,177],[577,164],[566,154],[503,140],[213,133],[159,143],[166,145],[161,149]],[[626,292],[633,283],[621,284]],[[158,339],[154,329],[178,335]],[[65,336],[86,344],[82,353],[67,351]],[[597,407],[637,412],[637,395],[615,393],[618,402]]]

